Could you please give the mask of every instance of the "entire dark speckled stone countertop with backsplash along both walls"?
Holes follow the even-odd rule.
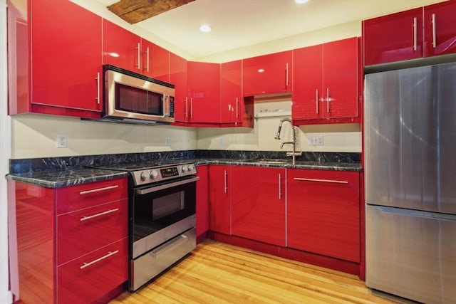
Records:
[[[6,175],[6,178],[41,187],[59,188],[74,184],[128,177],[127,172],[93,169],[90,167],[109,167],[109,165],[113,164],[157,162],[170,159],[177,163],[191,161],[197,165],[231,164],[354,172],[361,172],[362,170],[359,153],[304,152],[302,156],[296,157],[296,164],[291,164],[291,157],[287,157],[285,152],[190,150],[10,159],[10,174]]]

